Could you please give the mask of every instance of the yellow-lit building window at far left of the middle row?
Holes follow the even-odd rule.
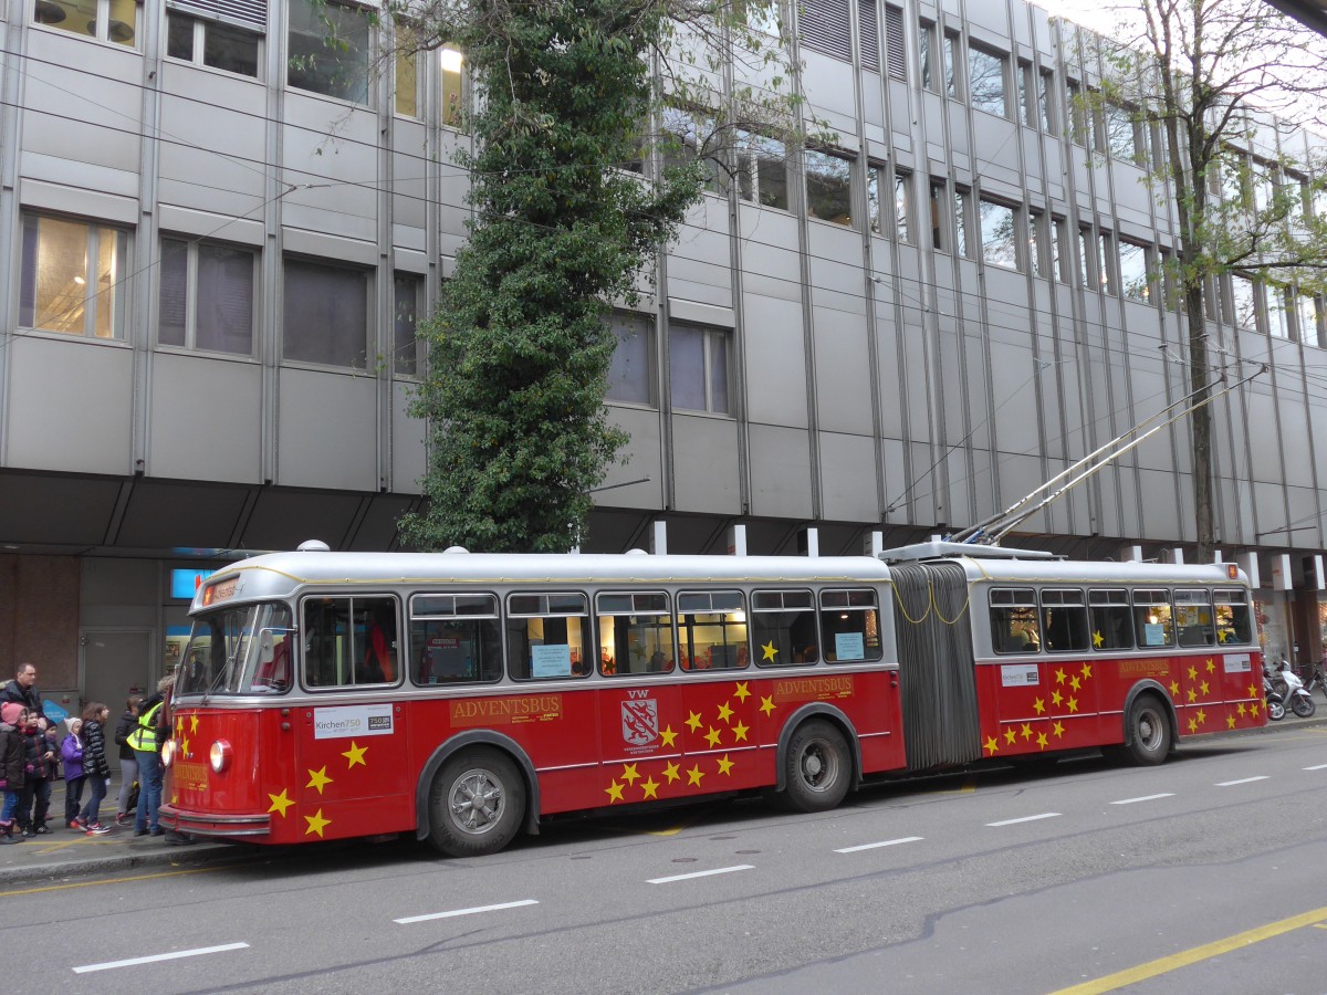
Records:
[[[23,218],[19,324],[123,338],[129,232],[44,215]]]

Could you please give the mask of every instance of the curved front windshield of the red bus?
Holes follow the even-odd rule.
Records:
[[[199,616],[175,681],[178,696],[273,694],[291,686],[295,629],[285,605],[235,605]]]

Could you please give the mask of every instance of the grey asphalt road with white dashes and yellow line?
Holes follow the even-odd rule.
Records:
[[[1287,726],[820,816],[729,803],[478,860],[364,844],[54,884],[0,898],[0,949],[46,991],[154,995],[1322,992],[1324,837],[1327,728]]]

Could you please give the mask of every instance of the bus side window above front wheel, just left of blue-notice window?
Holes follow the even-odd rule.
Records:
[[[494,594],[410,598],[411,674],[417,685],[502,679],[502,631]]]

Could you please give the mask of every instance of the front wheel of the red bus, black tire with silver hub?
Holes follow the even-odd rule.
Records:
[[[525,780],[498,750],[462,750],[429,789],[429,841],[449,857],[498,853],[525,817]]]

